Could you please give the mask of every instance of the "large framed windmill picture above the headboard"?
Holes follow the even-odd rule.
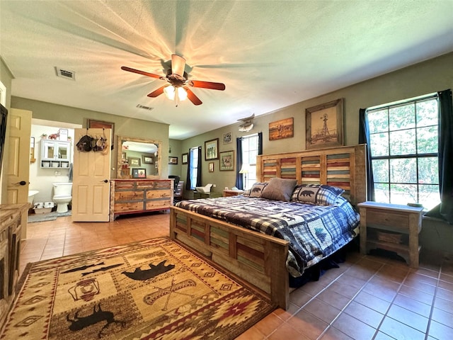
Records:
[[[305,109],[306,149],[343,145],[343,98]]]

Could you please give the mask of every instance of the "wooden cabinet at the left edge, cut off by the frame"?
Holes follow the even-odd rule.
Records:
[[[28,208],[29,203],[0,205],[0,328],[17,293],[23,227],[21,217]]]

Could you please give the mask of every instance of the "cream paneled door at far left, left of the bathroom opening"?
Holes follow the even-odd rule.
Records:
[[[30,135],[32,112],[11,108],[8,112],[8,158],[5,160],[7,188],[6,203],[28,202],[30,174]],[[21,239],[27,237],[28,210],[23,212]]]

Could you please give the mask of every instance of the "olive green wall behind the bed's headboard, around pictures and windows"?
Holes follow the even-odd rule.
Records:
[[[343,105],[343,130],[344,144],[355,145],[358,143],[359,109],[391,103],[406,98],[412,98],[432,92],[453,88],[453,53],[442,55],[426,62],[415,64],[411,67],[399,69],[380,77],[362,81],[361,83],[345,87],[324,94],[307,101],[296,103],[286,108],[260,115],[254,119],[251,132],[239,132],[239,123],[228,125],[202,135],[184,140],[181,149],[202,146],[205,152],[205,141],[219,138],[219,152],[234,150],[236,154],[236,138],[263,132],[263,154],[281,152],[295,152],[306,149],[305,147],[305,109],[322,103],[328,103],[338,98],[344,99]],[[294,118],[294,137],[282,140],[269,140],[269,123],[285,118]],[[224,145],[222,135],[232,132],[233,142]],[[187,152],[187,151],[183,151]],[[208,163],[202,162],[202,185],[215,183],[213,191],[221,192],[225,186],[231,188],[236,182],[236,171],[219,171],[219,161],[214,161],[214,172],[208,172]],[[234,166],[236,170],[236,165]],[[187,173],[187,166],[181,166],[182,176]]]

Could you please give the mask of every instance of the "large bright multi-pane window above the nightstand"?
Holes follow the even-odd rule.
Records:
[[[440,203],[438,99],[413,98],[367,110],[377,202]]]

